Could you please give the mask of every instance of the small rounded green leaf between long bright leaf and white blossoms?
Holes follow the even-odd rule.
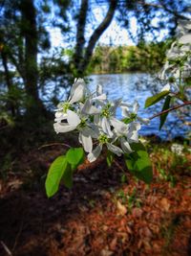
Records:
[[[74,167],[80,165],[84,160],[84,151],[82,148],[71,148],[66,153],[67,161]]]

